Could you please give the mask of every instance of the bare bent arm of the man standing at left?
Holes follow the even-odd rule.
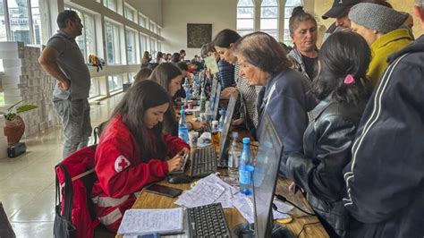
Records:
[[[69,89],[70,81],[64,75],[64,72],[59,68],[57,64],[57,57],[59,56],[59,52],[55,49],[55,47],[46,47],[41,55],[38,58],[38,63],[43,67],[43,70],[50,74],[58,81],[58,87],[60,89]]]

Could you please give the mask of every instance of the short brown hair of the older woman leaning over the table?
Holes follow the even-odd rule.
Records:
[[[271,74],[282,72],[292,65],[283,47],[265,32],[257,31],[240,38],[233,51],[242,55],[249,64]]]

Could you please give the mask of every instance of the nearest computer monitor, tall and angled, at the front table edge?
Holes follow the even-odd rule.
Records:
[[[265,112],[259,135],[258,157],[253,172],[253,212],[255,237],[271,237],[273,229],[272,203],[283,142],[278,136],[271,117]]]

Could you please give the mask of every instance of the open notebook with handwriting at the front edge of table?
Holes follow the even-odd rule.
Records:
[[[129,209],[118,234],[172,234],[182,232],[182,208]]]

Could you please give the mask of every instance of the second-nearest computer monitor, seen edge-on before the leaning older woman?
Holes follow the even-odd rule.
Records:
[[[235,102],[237,101],[238,94],[232,93],[230,96],[230,101],[228,102],[228,106],[226,108],[226,115],[224,126],[221,132],[221,139],[219,141],[219,159],[220,166],[227,166],[227,158],[228,158],[228,131],[230,131],[230,125],[233,118],[233,112],[235,107]]]

